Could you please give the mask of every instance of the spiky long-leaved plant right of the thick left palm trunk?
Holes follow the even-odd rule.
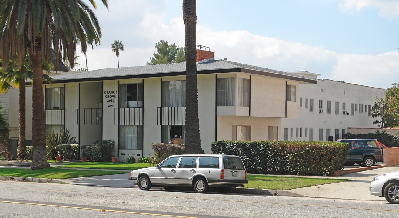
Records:
[[[57,131],[57,134],[54,132],[47,132],[46,136],[46,152],[47,159],[55,160],[55,156],[59,155],[58,145],[64,144],[76,144],[75,137],[71,136],[69,130],[61,130],[61,132]]]

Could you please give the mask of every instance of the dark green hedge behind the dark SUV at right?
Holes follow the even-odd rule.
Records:
[[[347,133],[343,136],[344,139],[377,139],[387,147],[399,147],[399,135],[387,134],[385,130],[382,132],[375,131],[375,133],[367,134],[352,134]]]

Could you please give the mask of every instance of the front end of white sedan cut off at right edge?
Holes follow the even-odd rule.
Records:
[[[371,195],[385,197],[391,204],[399,204],[399,171],[374,177],[369,189]]]

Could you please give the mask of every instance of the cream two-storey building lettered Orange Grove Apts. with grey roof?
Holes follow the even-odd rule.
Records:
[[[299,84],[317,82],[197,52],[205,153],[216,140],[277,140],[282,118],[298,118]],[[151,143],[184,143],[185,67],[173,63],[54,76],[53,84],[43,85],[47,129],[67,128],[81,145],[114,139],[120,160],[152,154]]]

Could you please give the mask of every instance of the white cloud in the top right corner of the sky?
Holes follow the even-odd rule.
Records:
[[[399,1],[396,0],[344,0],[339,4],[344,12],[359,12],[363,8],[373,7],[379,10],[378,15],[394,20],[399,17]]]

